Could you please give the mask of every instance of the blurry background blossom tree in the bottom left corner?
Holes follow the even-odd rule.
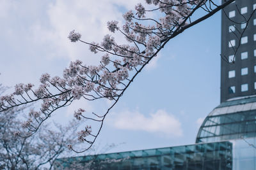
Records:
[[[0,84],[0,94],[5,88]],[[31,138],[19,138],[20,114],[29,106],[0,113],[0,169],[52,169],[58,157],[70,156],[68,143],[76,142],[77,122],[67,127],[43,125]],[[56,129],[56,130],[52,130]]]

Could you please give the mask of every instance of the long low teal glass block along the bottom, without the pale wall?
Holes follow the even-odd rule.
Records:
[[[232,169],[232,143],[156,148],[58,159],[54,169],[72,169],[74,162],[84,169]]]

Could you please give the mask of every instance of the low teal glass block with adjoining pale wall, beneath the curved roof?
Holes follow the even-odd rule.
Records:
[[[54,169],[255,170],[256,138],[63,158]]]

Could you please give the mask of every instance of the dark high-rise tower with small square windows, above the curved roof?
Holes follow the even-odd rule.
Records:
[[[249,18],[255,8],[256,0],[240,0],[229,4],[221,13],[221,103],[233,97],[250,96],[256,92],[255,14],[244,31],[244,17]],[[242,37],[240,42],[237,36]]]

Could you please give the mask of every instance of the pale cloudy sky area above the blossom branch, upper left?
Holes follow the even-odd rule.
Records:
[[[71,43],[68,33],[75,29],[84,41],[100,43],[111,33],[109,20],[118,20],[121,26],[122,13],[143,1],[0,1],[1,81],[32,82],[46,71],[60,76],[69,60],[99,64],[102,53],[94,55],[88,45]],[[124,43],[119,35],[115,39]]]

